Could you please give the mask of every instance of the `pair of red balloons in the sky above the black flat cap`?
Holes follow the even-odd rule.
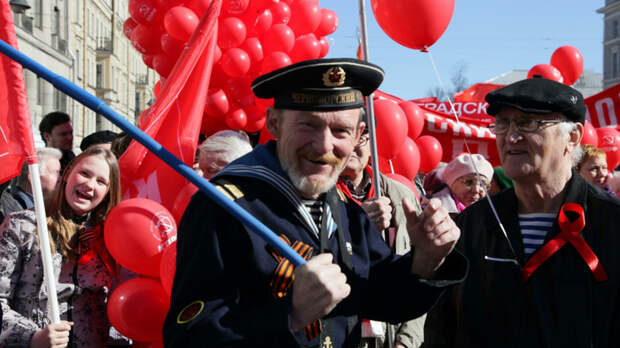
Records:
[[[549,64],[534,65],[527,73],[527,78],[540,75],[571,86],[583,72],[583,56],[573,46],[562,46],[551,55]]]

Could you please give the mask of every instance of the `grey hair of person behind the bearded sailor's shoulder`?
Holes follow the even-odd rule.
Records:
[[[241,131],[224,130],[208,137],[199,146],[202,152],[218,152],[222,159],[232,162],[252,151],[250,138]]]

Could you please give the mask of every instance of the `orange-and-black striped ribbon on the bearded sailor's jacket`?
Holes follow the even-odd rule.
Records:
[[[305,260],[309,260],[314,253],[314,248],[309,246],[308,244],[302,243],[296,240],[291,244],[290,239],[287,236],[281,234],[280,238],[288,245],[290,245],[296,253],[301,255]],[[275,299],[282,298],[286,296],[288,293],[288,289],[293,284],[295,280],[295,274],[293,271],[295,270],[295,266],[285,257],[282,257],[280,253],[278,253],[275,249],[271,249],[271,255],[278,265],[276,269],[273,271],[273,276],[271,278],[271,295]],[[319,320],[313,322],[312,324],[306,326],[306,337],[309,340],[314,339],[321,333],[321,322]]]

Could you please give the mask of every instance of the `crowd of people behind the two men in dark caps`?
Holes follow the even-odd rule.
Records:
[[[68,115],[48,114],[40,124],[40,132],[46,147],[38,149],[37,155],[64,319],[55,324],[47,319],[31,177],[24,164],[21,174],[1,188],[0,221],[4,223],[0,228],[0,346],[48,347],[69,342],[82,347],[129,345],[130,340],[110,330],[106,320],[106,298],[113,284],[118,283],[120,266],[105,250],[102,228],[107,213],[120,201],[117,159],[131,138],[124,133],[96,132],[82,140],[81,153],[76,156]],[[493,168],[483,156],[461,154],[426,175],[420,172],[415,178],[415,194],[382,176],[384,197],[374,199],[368,136],[362,135],[338,186],[364,208],[377,229],[383,231],[386,243],[399,254],[410,249],[407,233],[402,231],[406,221],[398,203],[403,197],[422,206],[430,198],[439,198],[456,217],[486,195],[513,185],[501,167]],[[210,179],[252,147],[250,137],[241,131],[218,132],[199,144],[194,169]],[[615,196],[620,191],[620,175],[608,170],[605,152],[585,145],[582,153],[574,170],[598,189]],[[421,199],[418,201],[416,196]],[[378,347],[391,337],[396,347],[422,346],[424,320],[421,317],[396,326],[366,321],[363,344]],[[379,337],[380,341],[375,342]]]

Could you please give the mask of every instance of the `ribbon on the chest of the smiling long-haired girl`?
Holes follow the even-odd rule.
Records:
[[[95,256],[98,256],[105,265],[110,276],[115,275],[116,272],[114,270],[116,263],[110,253],[108,253],[108,250],[105,248],[101,225],[93,228],[80,227],[78,231],[77,254],[77,263],[80,265],[85,265]]]

